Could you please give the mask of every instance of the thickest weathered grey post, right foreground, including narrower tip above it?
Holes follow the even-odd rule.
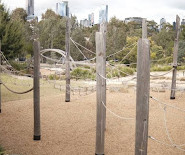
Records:
[[[137,90],[136,90],[136,133],[135,155],[147,155],[149,91],[150,91],[150,42],[147,39],[147,24],[143,19],[142,39],[137,49]]]

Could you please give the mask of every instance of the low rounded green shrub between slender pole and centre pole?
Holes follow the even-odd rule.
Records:
[[[87,70],[84,68],[75,68],[71,72],[72,78],[75,79],[95,79],[95,73],[92,70]]]

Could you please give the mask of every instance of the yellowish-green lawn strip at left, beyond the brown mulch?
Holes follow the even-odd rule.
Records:
[[[11,76],[1,74],[1,80],[6,86],[14,91],[22,92],[33,87],[33,79],[22,76]],[[60,95],[65,93],[65,80],[44,80],[40,79],[40,97],[48,97],[53,95]],[[87,82],[71,80],[72,87],[89,86]],[[60,89],[62,88],[62,89]],[[33,91],[26,94],[14,94],[7,90],[3,85],[1,86],[2,102],[17,101],[24,99],[33,99]]]

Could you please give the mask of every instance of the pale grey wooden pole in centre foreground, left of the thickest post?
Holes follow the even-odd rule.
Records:
[[[96,97],[97,97],[97,117],[96,117],[96,155],[104,155],[105,143],[105,114],[106,109],[106,46],[105,33],[96,33]],[[103,77],[102,77],[103,76]],[[102,103],[103,102],[103,103]]]

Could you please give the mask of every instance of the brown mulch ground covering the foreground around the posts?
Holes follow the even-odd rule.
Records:
[[[185,95],[169,100],[169,92],[151,93],[162,101],[185,109]],[[64,95],[41,98],[42,140],[33,141],[33,103],[31,99],[6,102],[0,114],[0,144],[20,155],[93,155],[95,153],[95,93],[65,103]],[[135,117],[135,92],[107,93],[107,106],[124,117]],[[185,143],[185,113],[167,108],[167,125],[173,140]],[[170,143],[165,134],[163,113],[150,102],[149,135]],[[135,121],[121,120],[107,111],[106,155],[133,155]],[[149,155],[183,155],[185,152],[149,139]]]

